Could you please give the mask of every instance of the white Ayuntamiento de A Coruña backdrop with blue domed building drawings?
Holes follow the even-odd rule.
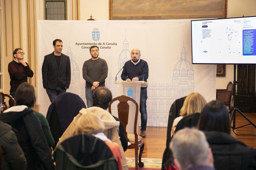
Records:
[[[91,58],[89,47],[97,45],[99,57],[108,63],[106,86],[119,96],[115,76],[138,48],[149,66],[147,126],[167,126],[171,104],[190,92],[207,101],[216,98],[216,65],[191,64],[190,20],[131,21],[38,21],[39,104],[44,115],[50,104],[42,83],[42,63],[53,52],[53,40],[63,41],[62,53],[71,60],[71,84],[67,90],[86,103],[82,67]],[[121,81],[120,74],[118,80]],[[117,114],[117,108],[113,112]]]

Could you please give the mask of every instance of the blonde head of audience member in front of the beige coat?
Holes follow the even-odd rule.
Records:
[[[104,123],[95,114],[87,112],[82,114],[76,122],[76,134],[97,134],[104,132]]]

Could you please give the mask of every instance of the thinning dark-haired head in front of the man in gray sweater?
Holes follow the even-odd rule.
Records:
[[[112,93],[107,87],[98,87],[92,94],[93,106],[107,109],[112,100]]]

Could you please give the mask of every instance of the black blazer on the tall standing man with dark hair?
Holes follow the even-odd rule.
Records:
[[[60,67],[58,68],[54,52],[44,57],[42,66],[44,88],[55,89],[59,85],[62,89],[68,89],[71,79],[70,59],[61,53]]]

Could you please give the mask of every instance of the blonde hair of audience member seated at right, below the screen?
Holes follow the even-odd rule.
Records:
[[[206,104],[204,97],[196,92],[190,93],[181,108],[180,116],[186,116],[192,113],[200,113]]]

